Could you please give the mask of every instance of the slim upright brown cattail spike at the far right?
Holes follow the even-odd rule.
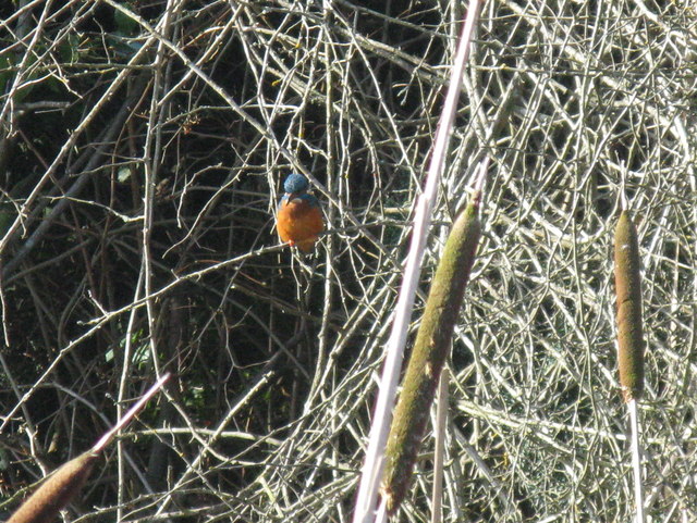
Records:
[[[644,328],[639,242],[627,211],[614,233],[614,279],[617,295],[620,384],[624,400],[638,400],[644,391]]]

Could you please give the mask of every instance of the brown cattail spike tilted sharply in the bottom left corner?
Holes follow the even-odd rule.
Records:
[[[84,452],[51,474],[7,523],[50,523],[85,484],[98,454]]]

